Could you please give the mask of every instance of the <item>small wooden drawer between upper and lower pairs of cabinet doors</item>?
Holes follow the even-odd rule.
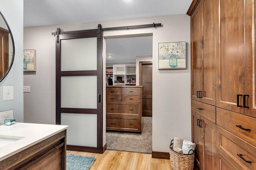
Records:
[[[216,107],[191,100],[191,110],[198,113],[202,117],[208,119],[212,123],[216,123]]]

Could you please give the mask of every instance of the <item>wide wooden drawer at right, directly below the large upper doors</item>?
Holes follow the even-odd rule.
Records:
[[[256,118],[217,107],[216,123],[223,129],[256,146]]]

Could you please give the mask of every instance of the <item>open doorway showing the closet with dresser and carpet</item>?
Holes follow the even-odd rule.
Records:
[[[106,39],[107,150],[152,153],[152,45],[152,36]]]

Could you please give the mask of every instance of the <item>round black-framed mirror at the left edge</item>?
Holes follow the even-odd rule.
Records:
[[[0,82],[10,71],[14,61],[14,40],[12,31],[0,11]]]

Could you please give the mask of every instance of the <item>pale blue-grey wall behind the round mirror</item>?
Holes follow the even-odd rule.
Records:
[[[14,63],[0,82],[0,112],[13,110],[14,118],[23,122],[23,0],[0,0],[0,11],[8,22],[15,44]],[[14,100],[3,101],[3,86],[14,86]]]

